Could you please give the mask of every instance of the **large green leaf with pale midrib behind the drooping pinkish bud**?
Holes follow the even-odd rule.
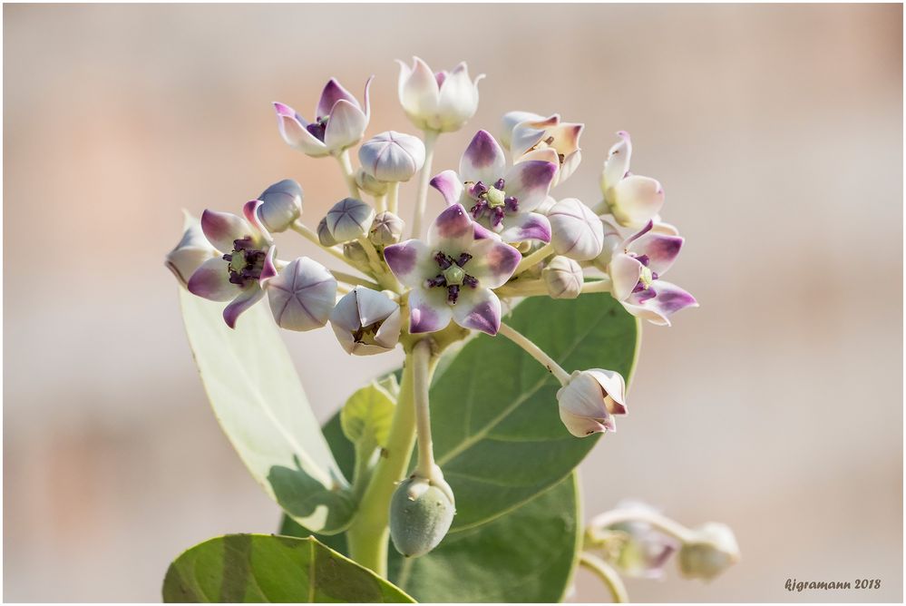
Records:
[[[608,294],[530,298],[504,321],[569,372],[609,368],[631,375],[638,322]],[[577,438],[560,423],[559,388],[520,347],[485,335],[469,341],[435,379],[434,455],[456,495],[453,533],[490,522],[559,483],[597,443],[599,435]]]

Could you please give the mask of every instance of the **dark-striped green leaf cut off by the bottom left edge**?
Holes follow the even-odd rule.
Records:
[[[228,534],[170,564],[165,602],[406,602],[374,572],[314,538]]]

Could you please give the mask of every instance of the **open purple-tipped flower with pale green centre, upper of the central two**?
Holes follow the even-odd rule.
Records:
[[[487,131],[472,138],[459,172],[443,171],[431,185],[448,205],[462,204],[472,218],[498,233],[504,242],[550,242],[550,222],[534,212],[547,199],[557,165],[542,160],[506,167],[500,143]]]

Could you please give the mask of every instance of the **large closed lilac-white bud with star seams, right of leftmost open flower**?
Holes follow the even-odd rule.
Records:
[[[336,302],[336,279],[307,257],[291,261],[265,282],[265,289],[274,319],[288,330],[323,327]]]

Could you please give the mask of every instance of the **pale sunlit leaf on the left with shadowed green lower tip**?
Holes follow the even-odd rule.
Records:
[[[341,531],[355,504],[267,306],[249,309],[233,330],[222,303],[180,288],[180,304],[214,415],[248,471],[298,523]]]

